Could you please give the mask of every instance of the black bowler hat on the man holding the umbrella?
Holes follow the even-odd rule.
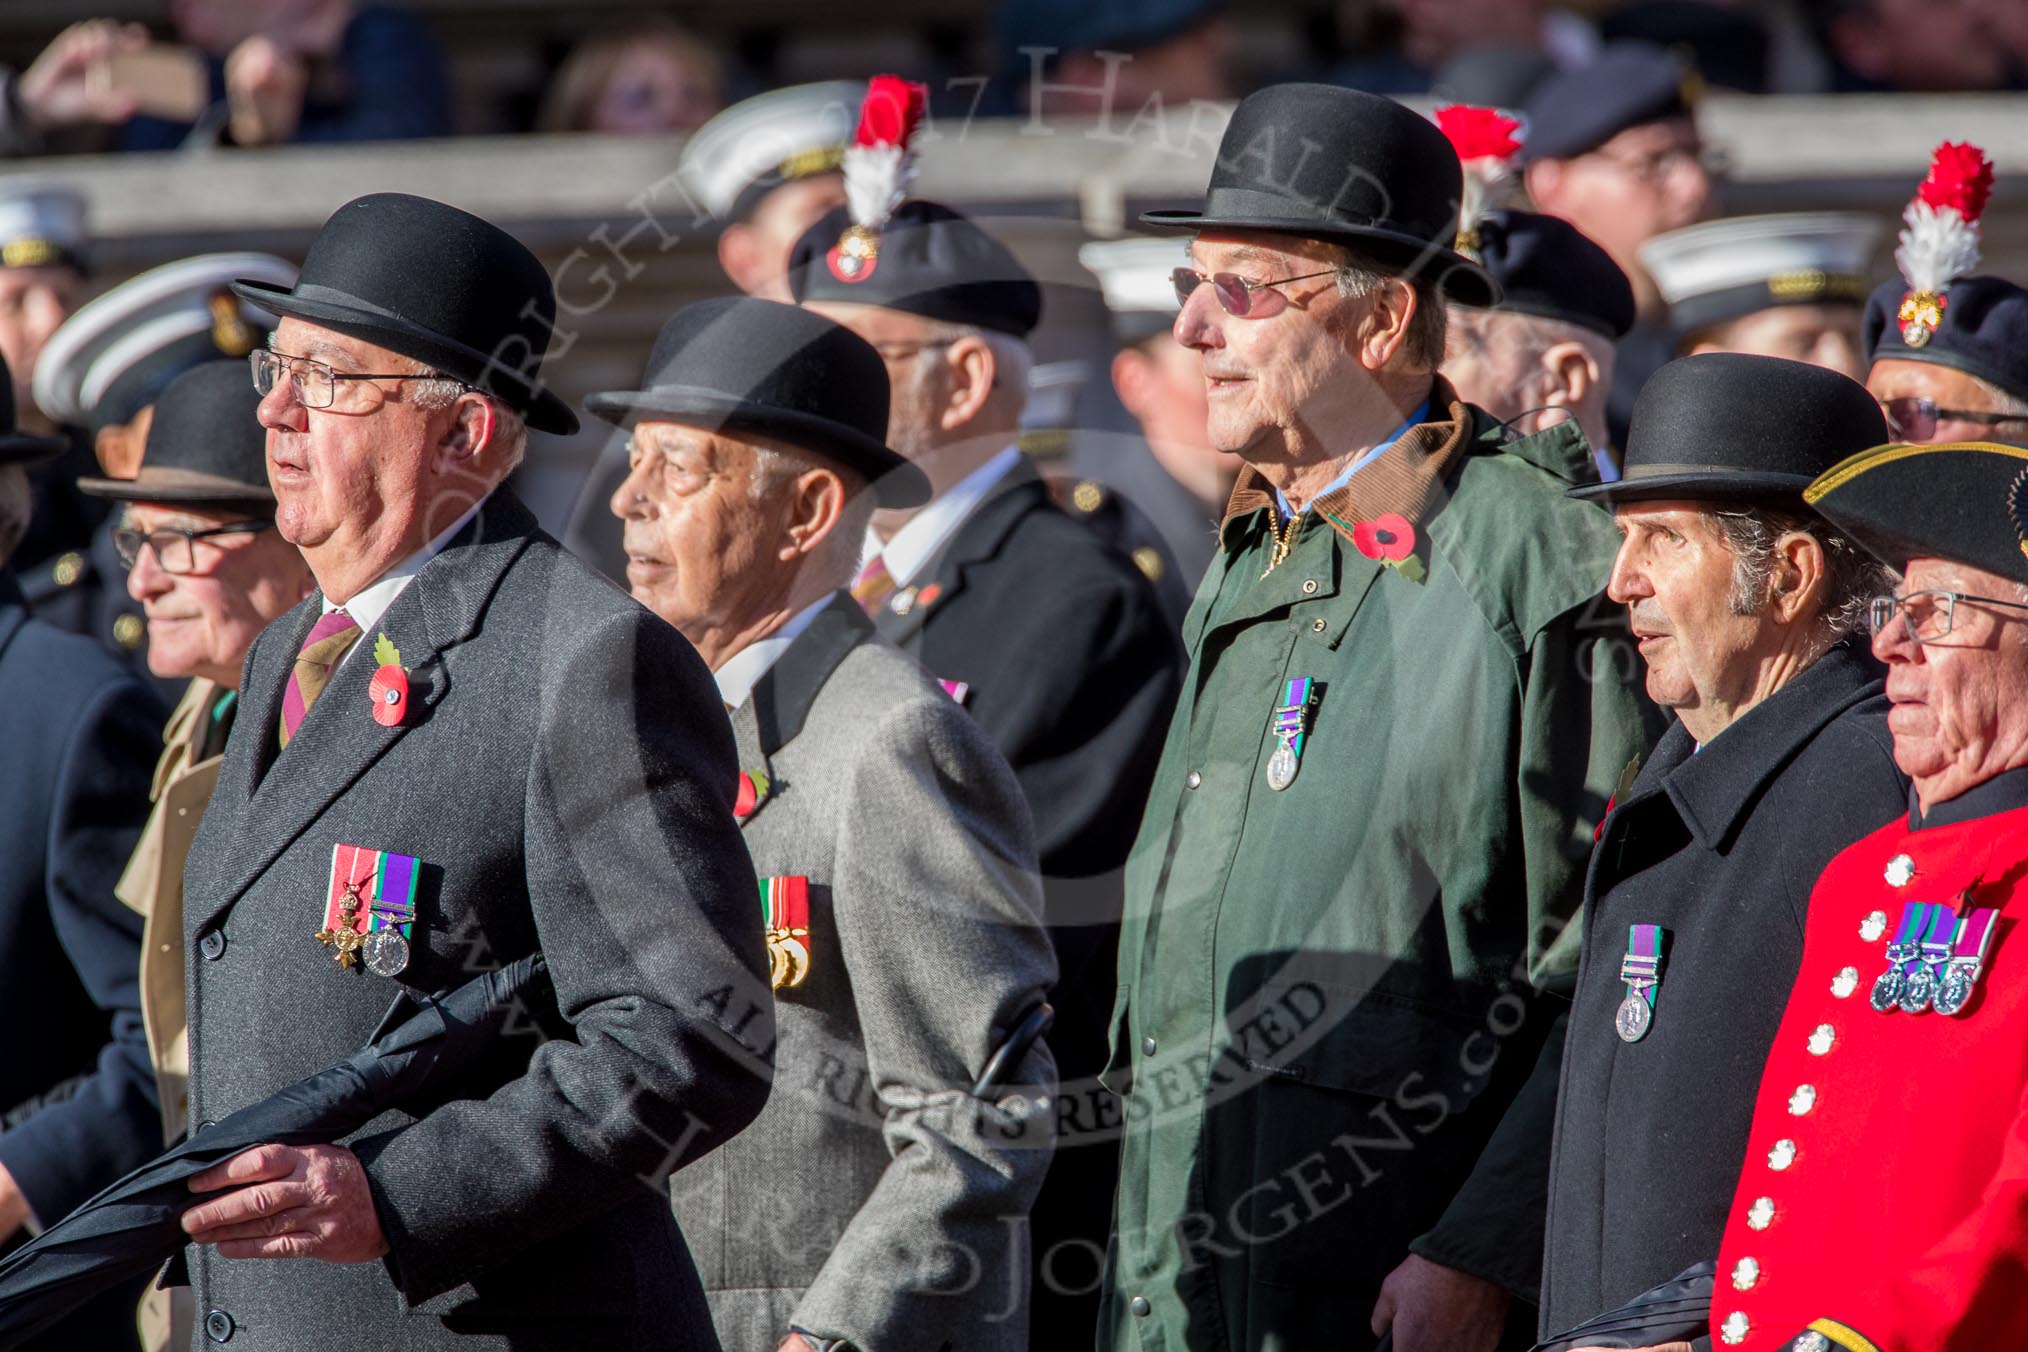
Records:
[[[339,207],[296,286],[233,282],[239,298],[424,361],[570,434],[578,416],[544,389],[556,288],[527,247],[468,211],[406,193]]]

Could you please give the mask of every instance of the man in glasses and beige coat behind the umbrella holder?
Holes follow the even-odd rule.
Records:
[[[118,896],[146,922],[140,1009],[162,1103],[162,1141],[189,1131],[189,1026],[183,1003],[183,863],[219,782],[239,711],[239,671],[268,624],[316,582],[274,529],[268,432],[247,363],[209,361],[148,401],[148,442],[134,474],[79,489],[120,503],[114,545],[128,594],[148,616],[148,669],[187,681],[154,766],[154,809],[120,874]],[[191,1342],[189,1287],[142,1297],[150,1348]]]

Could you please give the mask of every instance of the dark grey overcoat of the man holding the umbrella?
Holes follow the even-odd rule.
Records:
[[[667,1174],[760,1111],[773,1001],[710,673],[505,491],[278,752],[316,616],[312,596],[254,643],[185,868],[193,1123],[339,1060],[404,985],[537,947],[562,1036],[507,1040],[462,1097],[347,1141],[385,1259],[187,1249],[197,1346],[716,1348]],[[381,634],[410,681],[395,726],[371,713]],[[420,859],[397,977],[341,969],[314,938],[341,843]]]

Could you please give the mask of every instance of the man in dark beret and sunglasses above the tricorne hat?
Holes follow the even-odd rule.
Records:
[[[1935,330],[1910,345],[1898,320],[1908,286],[1884,282],[1866,304],[1866,387],[1896,442],[2028,446],[2028,290],[1957,278]]]

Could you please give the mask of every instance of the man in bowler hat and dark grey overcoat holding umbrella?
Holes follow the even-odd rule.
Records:
[[[237,290],[284,316],[251,367],[316,592],[247,655],[185,868],[197,1131],[537,947],[568,1036],[193,1180],[205,1336],[712,1348],[663,1188],[767,1097],[754,876],[704,663],[501,489],[527,428],[576,428],[539,381],[550,278],[479,217],[375,195],[294,288]]]

